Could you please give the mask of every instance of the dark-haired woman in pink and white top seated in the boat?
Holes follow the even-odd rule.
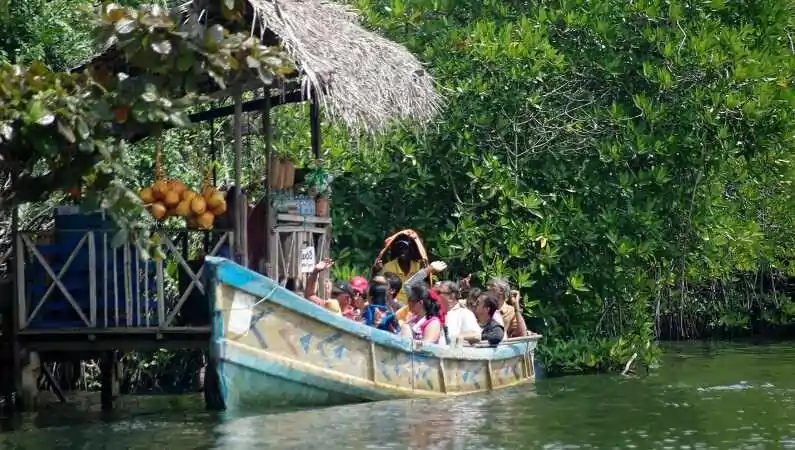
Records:
[[[408,303],[411,315],[406,326],[401,328],[401,333],[417,341],[445,345],[441,298],[438,294],[427,283],[414,283],[408,288]]]

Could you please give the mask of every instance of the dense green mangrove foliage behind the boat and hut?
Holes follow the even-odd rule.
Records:
[[[790,2],[356,4],[427,62],[447,106],[424,130],[376,139],[324,127],[347,271],[390,232],[419,230],[452,273],[522,289],[556,373],[616,370],[633,353],[651,364],[655,337],[792,321]],[[305,108],[275,120],[276,149],[307,161]],[[170,133],[166,152],[200,153],[209,135]],[[136,150],[145,180],[151,143]]]

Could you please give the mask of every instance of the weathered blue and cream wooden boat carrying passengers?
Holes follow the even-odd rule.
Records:
[[[420,345],[337,316],[232,261],[207,258],[205,396],[214,408],[325,406],[488,392],[534,378],[538,336]]]

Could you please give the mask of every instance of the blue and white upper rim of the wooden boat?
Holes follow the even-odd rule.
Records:
[[[534,347],[531,348],[531,344],[537,343],[541,338],[541,335],[514,338],[494,347],[448,347],[422,343],[421,347],[415,348],[417,341],[338,316],[292,292],[281,291],[286,293],[286,295],[273,295],[279,292],[280,288],[284,288],[274,280],[240,266],[233,261],[208,256],[205,259],[205,264],[209,265],[208,275],[211,281],[214,281],[217,285],[227,285],[232,289],[246,292],[253,297],[259,297],[260,301],[272,302],[365,341],[371,341],[386,348],[412,353],[420,357],[436,357],[445,361],[501,361],[520,355],[532,354]],[[213,285],[211,282],[208,286]],[[212,289],[212,291],[210,297],[215,300],[216,291],[215,289]],[[215,301],[212,302],[210,307],[213,315],[223,311],[217,309]],[[225,339],[223,328],[221,326],[217,331],[213,330],[213,341],[217,342],[218,339]]]

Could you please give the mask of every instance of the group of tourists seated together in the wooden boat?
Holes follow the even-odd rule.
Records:
[[[307,278],[304,296],[350,320],[417,341],[439,345],[466,345],[527,336],[519,292],[504,279],[492,279],[484,289],[470,285],[471,276],[454,281],[434,281],[447,265],[434,261],[422,267],[416,246],[406,238],[391,246],[393,259],[379,258],[369,279],[328,279],[321,296],[315,293],[321,273],[334,261],[317,263]]]

